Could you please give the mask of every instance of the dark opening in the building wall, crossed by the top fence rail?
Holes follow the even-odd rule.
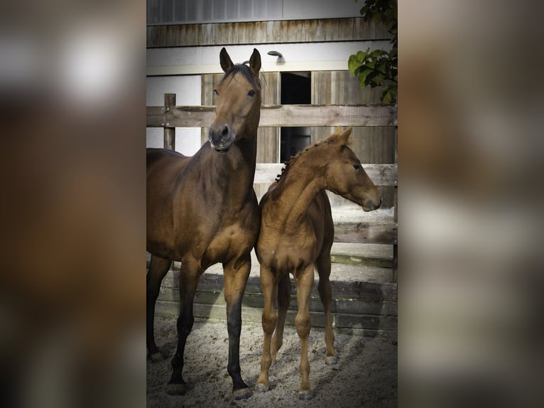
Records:
[[[281,73],[281,104],[311,104],[311,73]],[[310,146],[310,128],[281,127],[280,161],[288,161],[299,151]]]

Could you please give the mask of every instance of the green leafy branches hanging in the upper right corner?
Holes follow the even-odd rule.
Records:
[[[357,1],[357,0],[355,0]],[[398,87],[398,23],[396,0],[366,0],[359,11],[365,21],[383,23],[391,33],[393,48],[390,51],[359,51],[349,55],[347,67],[359,78],[361,88],[382,85],[381,102],[394,103]]]

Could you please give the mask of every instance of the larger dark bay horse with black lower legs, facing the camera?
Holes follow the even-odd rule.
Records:
[[[147,152],[147,250],[152,255],[147,274],[147,347],[152,360],[161,358],[153,336],[155,302],[171,262],[180,261],[178,349],[167,392],[185,394],[183,352],[194,321],[197,284],[208,267],[221,262],[229,333],[227,370],[234,397],[241,399],[251,395],[241,378],[239,345],[241,299],[260,222],[253,181],[261,55],[254,49],[249,65],[234,65],[222,48],[219,60],[225,74],[214,90],[217,117],[208,141],[192,157],[165,149]]]

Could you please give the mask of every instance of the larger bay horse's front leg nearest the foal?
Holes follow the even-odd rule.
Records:
[[[251,257],[235,259],[223,265],[224,297],[227,303],[227,331],[229,333],[229,363],[227,371],[232,378],[234,399],[251,397],[251,390],[241,378],[240,370],[240,333],[241,300],[246,290],[246,283],[251,271]]]

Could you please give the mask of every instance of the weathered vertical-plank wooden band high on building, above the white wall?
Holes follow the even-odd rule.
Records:
[[[388,40],[381,23],[354,18],[177,24],[147,27],[147,47]]]

